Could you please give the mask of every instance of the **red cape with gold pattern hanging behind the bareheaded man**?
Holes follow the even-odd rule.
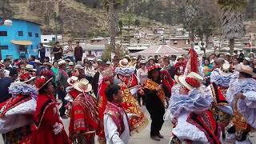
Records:
[[[142,112],[141,107],[138,105],[138,101],[133,97],[130,93],[130,90],[126,86],[125,83],[120,83],[121,90],[124,94],[124,102],[122,102],[122,107],[126,111],[126,114],[138,114],[139,118],[130,118],[129,126],[130,126],[130,134],[138,133],[142,129],[144,129],[149,123],[145,114]]]

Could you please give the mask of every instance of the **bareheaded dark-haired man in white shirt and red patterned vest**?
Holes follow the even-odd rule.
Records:
[[[123,102],[121,87],[115,84],[108,86],[106,98],[108,100],[104,112],[106,144],[127,144],[130,130],[128,116],[121,106]]]

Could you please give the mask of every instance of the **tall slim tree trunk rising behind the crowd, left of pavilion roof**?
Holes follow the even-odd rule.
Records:
[[[115,51],[115,36],[118,34],[118,10],[122,6],[122,0],[103,0],[102,6],[106,9],[111,50]]]

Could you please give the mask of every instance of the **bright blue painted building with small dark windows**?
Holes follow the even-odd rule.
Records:
[[[26,20],[11,20],[12,26],[0,26],[0,59],[37,56],[41,42],[40,25]]]

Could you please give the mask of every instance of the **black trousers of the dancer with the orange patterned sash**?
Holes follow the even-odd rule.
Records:
[[[162,129],[162,124],[164,122],[163,115],[165,114],[165,107],[162,104],[152,105],[146,103],[146,109],[150,113],[151,128],[150,128],[150,136],[155,136],[160,134],[160,130]]]

